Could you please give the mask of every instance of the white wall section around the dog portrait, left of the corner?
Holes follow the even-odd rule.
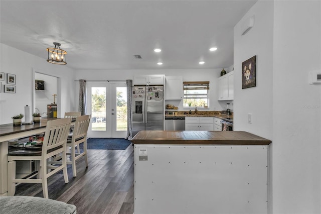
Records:
[[[244,36],[241,26],[254,16]],[[242,62],[256,55],[256,87],[242,89]],[[234,130],[272,138],[273,2],[259,1],[234,28]],[[247,121],[252,114],[252,124]]]

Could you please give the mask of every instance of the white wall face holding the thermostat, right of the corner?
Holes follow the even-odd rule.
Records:
[[[273,212],[321,213],[321,2],[275,1]]]

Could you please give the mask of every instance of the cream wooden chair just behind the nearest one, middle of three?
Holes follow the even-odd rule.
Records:
[[[88,158],[87,158],[87,131],[90,123],[90,115],[79,116],[76,118],[75,129],[72,136],[68,136],[67,146],[71,147],[70,161],[67,161],[67,164],[72,165],[73,176],[77,176],[76,170],[76,160],[80,157],[85,156],[86,167],[88,167]],[[83,143],[83,152],[76,153],[76,147],[79,148],[79,144]]]

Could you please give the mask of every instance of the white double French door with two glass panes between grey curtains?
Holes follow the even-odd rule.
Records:
[[[125,138],[127,134],[126,82],[87,82],[90,138]]]

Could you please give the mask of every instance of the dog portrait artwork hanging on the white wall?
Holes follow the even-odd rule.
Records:
[[[256,56],[242,62],[242,89],[256,86]]]

